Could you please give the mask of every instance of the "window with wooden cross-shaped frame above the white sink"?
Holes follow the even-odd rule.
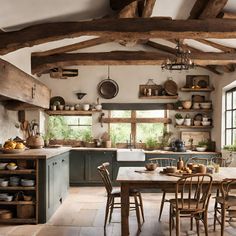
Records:
[[[145,143],[147,139],[161,136],[169,122],[165,110],[115,110],[109,112],[108,120],[113,144],[126,143],[130,134],[135,142]]]

